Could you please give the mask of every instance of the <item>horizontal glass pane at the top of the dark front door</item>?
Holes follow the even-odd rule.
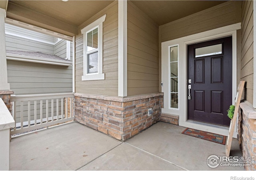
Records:
[[[196,48],[196,58],[216,54],[222,54],[222,44]]]

